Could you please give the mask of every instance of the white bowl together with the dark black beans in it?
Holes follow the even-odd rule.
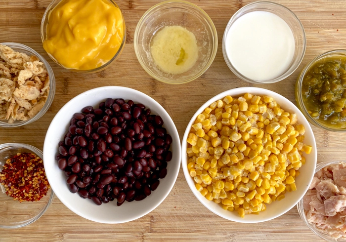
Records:
[[[56,196],[100,223],[140,218],[165,200],[177,178],[180,139],[166,110],[121,86],[86,91],[51,122],[43,162]]]

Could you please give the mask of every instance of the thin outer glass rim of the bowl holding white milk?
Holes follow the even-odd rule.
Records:
[[[292,71],[290,73],[288,73],[286,75],[280,75],[277,78],[274,78],[274,79],[271,79],[271,80],[267,80],[267,81],[256,81],[256,80],[253,80],[253,79],[245,77],[244,75],[239,73],[237,71],[237,69],[232,65],[231,61],[229,60],[229,58],[227,56],[226,46],[225,46],[226,43],[225,42],[226,42],[226,38],[227,38],[227,33],[228,33],[229,29],[231,28],[232,24],[235,22],[235,19],[238,17],[239,13],[244,11],[244,9],[246,9],[246,8],[249,8],[251,6],[258,5],[258,4],[263,4],[263,3],[264,4],[269,4],[269,6],[270,5],[275,5],[275,6],[281,7],[282,9],[287,10],[297,20],[297,22],[299,23],[299,25],[301,27],[301,30],[303,32],[303,52],[302,52],[301,56],[298,59],[296,67],[294,69],[292,69]],[[242,79],[244,81],[250,82],[250,83],[254,83],[254,84],[270,84],[270,83],[275,83],[275,82],[282,81],[282,80],[288,78],[289,76],[291,76],[297,70],[297,68],[302,63],[304,55],[305,55],[305,50],[306,50],[306,35],[305,35],[304,26],[303,26],[301,20],[298,18],[298,16],[291,9],[289,9],[288,7],[286,7],[286,6],[282,5],[282,4],[279,4],[279,3],[276,3],[276,2],[273,2],[273,1],[255,1],[255,2],[249,3],[249,4],[245,5],[245,6],[243,6],[242,8],[240,8],[238,11],[236,11],[232,15],[232,17],[228,21],[227,26],[225,28],[225,31],[223,33],[223,37],[222,37],[222,54],[223,54],[223,58],[224,58],[224,60],[225,60],[225,62],[227,64],[228,68],[238,78],[240,78],[240,79]]]

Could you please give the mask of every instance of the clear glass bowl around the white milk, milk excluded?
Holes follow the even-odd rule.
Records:
[[[237,71],[237,69],[232,64],[231,60],[228,58],[227,52],[226,52],[225,45],[226,45],[227,34],[231,26],[233,25],[233,23],[244,14],[249,12],[254,12],[254,11],[270,12],[282,18],[291,28],[294,39],[295,39],[295,53],[289,67],[280,76],[271,80],[256,81],[256,80],[245,77],[244,75],[242,75],[240,72]],[[301,21],[299,20],[299,18],[296,16],[296,14],[294,14],[294,12],[292,12],[287,7],[275,2],[271,2],[271,1],[257,1],[257,2],[250,3],[242,7],[241,9],[239,9],[229,20],[226,26],[225,32],[223,34],[223,39],[222,39],[223,58],[225,59],[225,62],[227,66],[229,67],[229,69],[238,78],[250,83],[255,83],[255,84],[274,83],[277,81],[284,80],[285,78],[290,76],[301,64],[304,57],[305,48],[306,48],[306,37],[305,37],[303,25]]]

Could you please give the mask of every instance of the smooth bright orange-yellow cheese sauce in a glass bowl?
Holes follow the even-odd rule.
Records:
[[[68,69],[110,61],[124,38],[123,15],[108,0],[62,0],[49,13],[43,48]]]

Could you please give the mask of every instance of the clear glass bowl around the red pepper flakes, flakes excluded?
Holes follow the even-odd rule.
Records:
[[[0,145],[0,170],[6,159],[17,153],[34,153],[43,159],[43,153],[34,146],[20,143]],[[53,200],[54,193],[49,189],[47,195],[38,202],[18,202],[6,195],[5,188],[0,184],[0,228],[15,229],[27,226],[38,220]]]

